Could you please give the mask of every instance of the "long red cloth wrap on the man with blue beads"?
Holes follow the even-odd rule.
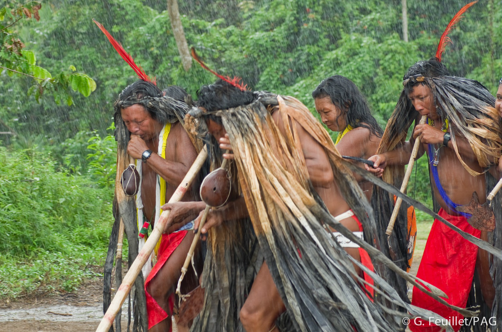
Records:
[[[465,217],[451,216],[443,209],[439,210],[438,215],[462,231],[479,238],[481,231],[470,226]],[[476,245],[436,219],[425,245],[417,277],[443,290],[448,295],[448,299],[445,299],[448,303],[465,308],[474,275],[476,255]],[[449,320],[455,331],[461,327],[458,323],[454,324],[462,319],[460,313],[434,300],[417,287],[413,288],[412,304],[436,312]],[[414,332],[441,330],[440,326],[429,323],[428,318],[426,319],[411,319],[410,329]]]

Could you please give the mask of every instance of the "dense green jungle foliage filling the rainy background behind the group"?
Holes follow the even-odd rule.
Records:
[[[435,55],[446,25],[467,3],[408,1],[410,41],[404,42],[400,0],[178,1],[188,45],[212,69],[240,76],[255,90],[293,95],[314,113],[311,91],[328,76],[347,76],[383,127],[407,68]],[[6,3],[9,9],[20,6]],[[52,0],[25,7],[33,16],[35,8],[40,21],[24,10],[0,8],[0,65],[32,76],[38,75],[34,66],[50,68],[60,74],[42,82],[55,78],[64,89],[46,83],[52,95],[41,97],[41,80],[0,71],[0,132],[12,133],[0,134],[9,147],[0,149],[0,226],[8,234],[0,243],[0,296],[53,285],[57,278],[58,287],[74,286],[61,280],[78,280],[84,269],[62,267],[104,255],[115,172],[112,105],[137,77],[92,19],[161,88],[180,85],[195,96],[215,80],[195,62],[183,69],[165,0]],[[502,74],[501,15],[499,3],[479,1],[450,34],[453,44],[442,60],[452,74],[477,79],[493,93]],[[13,53],[17,40],[24,47]],[[69,78],[77,71],[95,83],[89,97],[91,81]],[[409,194],[431,205],[424,158]],[[12,272],[14,265],[20,272]],[[75,273],[74,279],[66,273]]]

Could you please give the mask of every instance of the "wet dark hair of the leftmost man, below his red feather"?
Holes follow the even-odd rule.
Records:
[[[160,98],[162,96],[162,91],[155,84],[152,82],[138,80],[120,92],[118,99],[114,104],[115,113],[120,113],[122,108],[139,104],[145,107],[154,120],[157,120],[160,123],[166,123],[167,120],[165,115],[162,112],[159,112],[156,107],[151,107],[151,105],[149,105],[149,102],[153,98]]]

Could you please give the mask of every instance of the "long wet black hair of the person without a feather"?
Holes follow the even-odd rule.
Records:
[[[364,98],[354,82],[341,75],[334,75],[324,79],[312,91],[312,98],[325,97],[329,97],[331,102],[340,110],[347,110],[339,115],[345,117],[345,123],[353,128],[367,128],[374,135],[382,137],[384,131],[371,115],[371,109],[366,98]]]

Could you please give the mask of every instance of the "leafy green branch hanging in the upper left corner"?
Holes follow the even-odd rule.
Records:
[[[25,44],[19,39],[12,27],[20,20],[34,18],[39,21],[40,2],[32,1],[24,5],[15,4],[0,8],[0,74],[4,71],[9,76],[22,75],[32,78],[33,86],[28,95],[34,95],[37,102],[46,91],[52,92],[56,104],[73,104],[71,90],[88,97],[96,89],[96,82],[89,76],[77,73],[75,66],[70,65],[67,71],[52,75],[47,69],[37,66],[37,58],[33,51],[25,50]]]

